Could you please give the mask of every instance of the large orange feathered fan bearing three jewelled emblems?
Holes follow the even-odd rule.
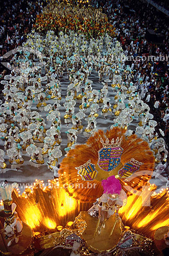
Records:
[[[154,156],[149,144],[136,135],[126,137],[125,133],[119,127],[106,133],[99,130],[86,144],[69,151],[61,163],[59,181],[70,196],[94,202],[103,193],[103,179],[115,175],[124,185],[124,180],[127,182],[126,178],[137,170],[153,170]],[[134,169],[130,168],[133,165]],[[128,185],[131,181],[130,178]],[[138,182],[139,177],[135,178],[135,183]]]

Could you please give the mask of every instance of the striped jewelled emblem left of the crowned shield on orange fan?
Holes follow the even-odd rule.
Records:
[[[78,170],[78,174],[82,177],[82,180],[94,180],[98,174],[95,165],[90,160],[79,167],[75,167],[75,169]]]

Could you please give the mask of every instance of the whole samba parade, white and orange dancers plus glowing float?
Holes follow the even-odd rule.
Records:
[[[168,152],[148,104],[146,75],[126,65],[102,9],[73,2],[46,4],[1,79],[0,252],[163,255]],[[11,182],[22,175],[27,181],[30,167],[34,177],[37,168],[53,177],[43,186],[37,175],[20,195]],[[151,176],[163,177],[159,194]],[[144,186],[146,206],[148,198],[140,201],[132,190]]]

